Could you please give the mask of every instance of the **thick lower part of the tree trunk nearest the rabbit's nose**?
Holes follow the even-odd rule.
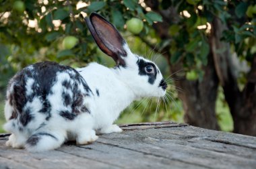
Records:
[[[170,72],[177,72],[181,64],[170,64]],[[184,90],[183,92],[179,91],[179,98],[183,101],[185,122],[198,127],[218,130],[215,111],[218,76],[214,69],[212,54],[210,54],[208,64],[203,70],[205,74],[201,82],[199,80],[189,81],[183,78],[183,80],[177,80],[175,85],[178,89]],[[177,74],[174,74],[174,78],[176,77]]]

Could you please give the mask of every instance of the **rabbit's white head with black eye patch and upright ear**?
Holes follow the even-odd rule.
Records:
[[[97,13],[86,18],[88,28],[102,52],[112,57],[117,66],[118,78],[140,97],[162,97],[167,84],[154,64],[141,56],[131,53],[129,46],[117,29]]]

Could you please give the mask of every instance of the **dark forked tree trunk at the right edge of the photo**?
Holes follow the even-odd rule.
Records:
[[[210,41],[215,68],[224,89],[228,107],[230,107],[234,121],[234,133],[256,136],[256,57],[247,76],[247,84],[243,91],[240,91],[234,75],[236,68],[232,65],[229,44],[220,41],[226,27],[220,19],[215,18],[212,28]]]

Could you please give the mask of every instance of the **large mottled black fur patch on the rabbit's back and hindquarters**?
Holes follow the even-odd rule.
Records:
[[[74,119],[79,113],[82,112],[84,97],[90,97],[92,91],[84,78],[77,72],[77,70],[69,67],[57,64],[55,62],[39,62],[28,66],[15,74],[9,82],[8,90],[10,91],[7,95],[9,104],[13,106],[15,111],[12,112],[10,119],[17,119],[22,123],[23,126],[28,125],[34,118],[30,112],[32,107],[24,108],[26,103],[32,102],[35,97],[40,99],[42,103],[42,109],[38,113],[45,114],[45,119],[51,119],[52,105],[47,99],[49,95],[55,95],[52,91],[53,85],[57,81],[57,73],[64,72],[68,74],[71,80],[63,80],[63,88],[71,90],[73,96],[71,97],[68,93],[62,93],[63,105],[72,108],[72,112],[61,113],[65,119]],[[31,85],[30,93],[26,93],[26,83],[31,78],[34,82]],[[73,82],[71,84],[71,81]],[[78,86],[84,87],[86,92],[79,90]],[[11,87],[13,89],[11,89]],[[61,90],[61,89],[60,89]],[[93,94],[92,94],[93,95]],[[69,114],[69,115],[68,115]],[[36,115],[35,115],[36,117]]]

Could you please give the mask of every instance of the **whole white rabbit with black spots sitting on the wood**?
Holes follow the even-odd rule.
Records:
[[[117,65],[92,62],[75,69],[45,61],[20,70],[7,87],[7,146],[42,152],[69,140],[90,144],[98,139],[96,131],[122,131],[113,122],[131,102],[165,95],[167,84],[158,66],[131,53],[112,23],[98,13],[85,21],[100,50]]]

